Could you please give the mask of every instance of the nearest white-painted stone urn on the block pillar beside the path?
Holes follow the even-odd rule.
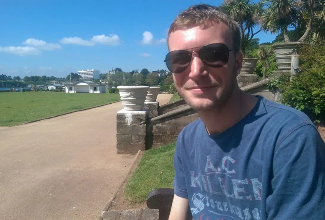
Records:
[[[122,105],[127,111],[141,111],[149,86],[118,86]]]

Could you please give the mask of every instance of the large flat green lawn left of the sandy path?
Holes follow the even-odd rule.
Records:
[[[13,126],[118,100],[118,93],[2,92],[0,126]]]

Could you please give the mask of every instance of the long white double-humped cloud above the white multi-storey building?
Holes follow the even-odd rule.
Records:
[[[123,41],[117,34],[110,34],[109,36],[101,34],[94,35],[90,40],[83,40],[80,37],[64,37],[60,42],[64,44],[77,44],[82,46],[94,46],[96,43],[117,46],[120,45]]]

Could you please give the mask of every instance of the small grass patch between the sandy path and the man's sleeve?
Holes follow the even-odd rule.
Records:
[[[130,205],[144,203],[156,188],[173,188],[175,143],[147,150],[125,185],[124,198]]]

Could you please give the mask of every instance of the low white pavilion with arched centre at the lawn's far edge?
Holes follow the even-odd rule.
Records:
[[[65,93],[106,93],[106,86],[96,84],[93,81],[77,81],[72,84],[64,84]]]

